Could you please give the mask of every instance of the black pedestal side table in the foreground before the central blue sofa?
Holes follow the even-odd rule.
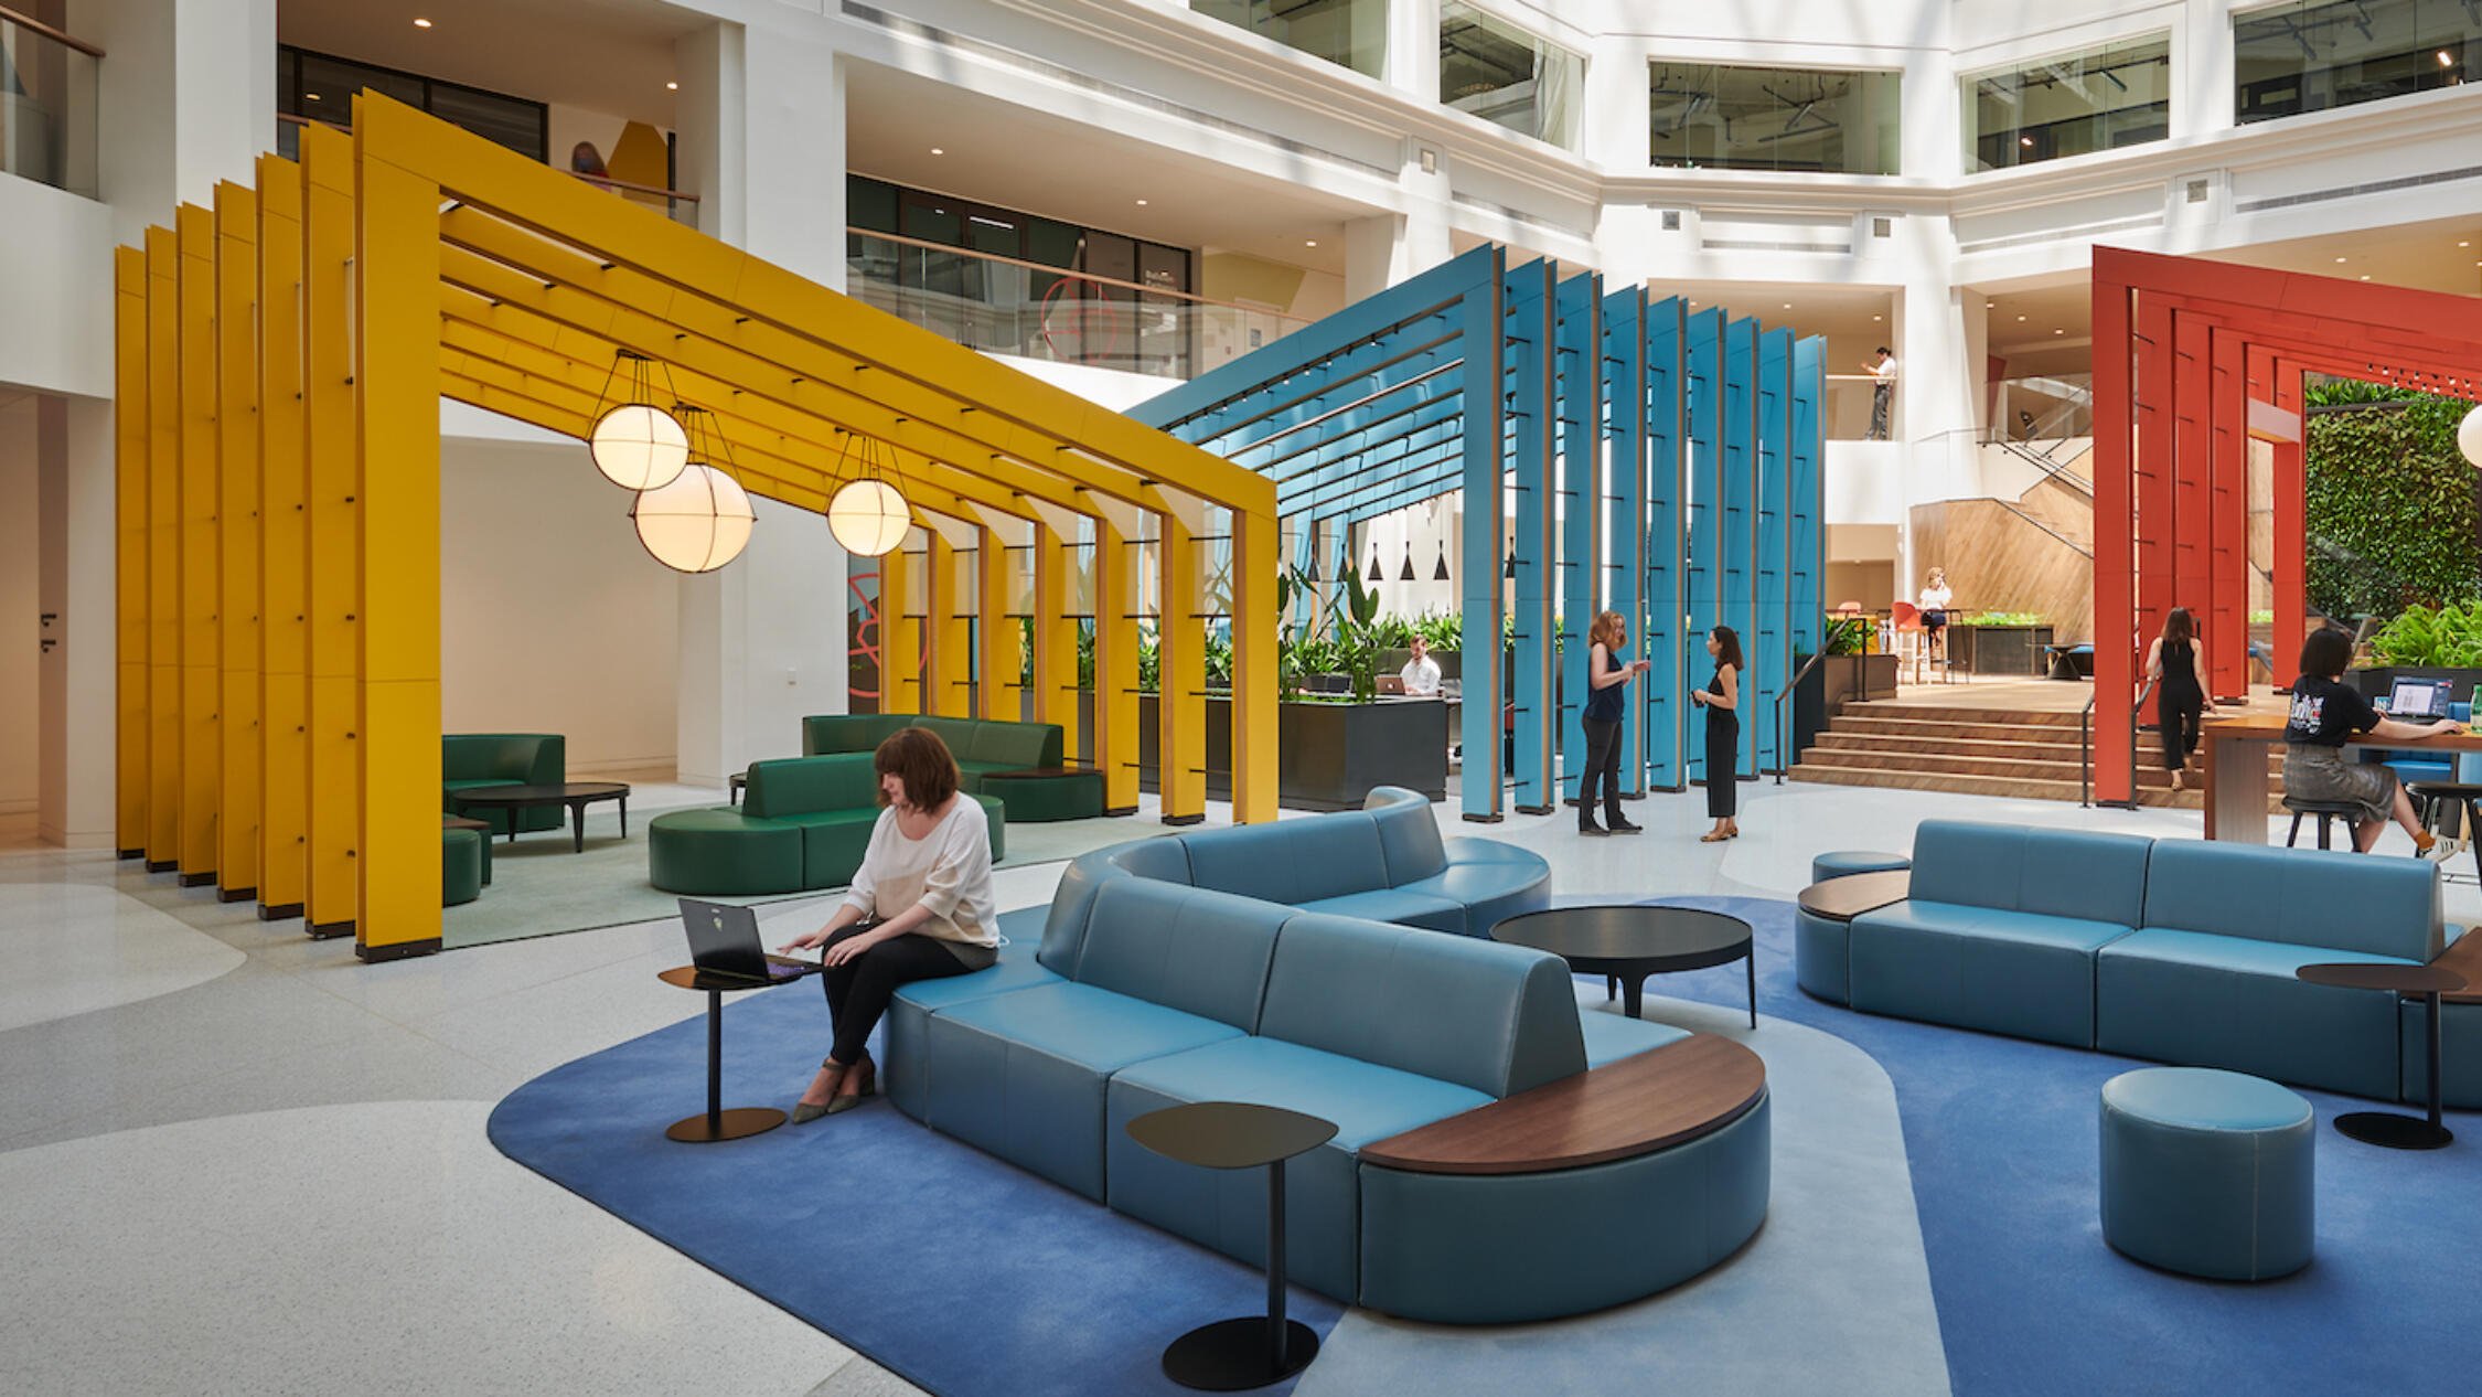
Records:
[[[1318,1335],[1283,1315],[1283,1161],[1335,1139],[1335,1122],[1251,1107],[1191,1102],[1129,1122],[1129,1139],[1199,1169],[1266,1166],[1266,1318],[1216,1320],[1172,1340],[1164,1377],[1201,1392],[1241,1392],[1293,1377],[1318,1357]]]

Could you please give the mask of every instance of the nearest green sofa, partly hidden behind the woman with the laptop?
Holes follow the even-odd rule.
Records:
[[[879,821],[869,752],[752,762],[740,809],[680,809],[648,829],[648,881],[668,893],[802,893],[841,888],[861,868]],[[1008,814],[990,816],[990,856],[1008,851]]]

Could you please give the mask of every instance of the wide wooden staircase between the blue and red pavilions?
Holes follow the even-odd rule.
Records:
[[[2075,712],[1854,702],[1792,764],[1794,782],[1894,787],[2038,801],[2077,799]],[[2192,787],[2197,777],[2192,777]],[[2204,809],[2197,789],[2174,792],[2154,732],[2137,734],[2137,799],[2149,806]]]

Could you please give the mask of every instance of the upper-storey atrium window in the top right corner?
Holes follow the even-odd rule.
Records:
[[[2231,22],[2234,119],[2271,122],[2457,87],[2482,60],[2482,5],[2341,0],[2256,10]]]

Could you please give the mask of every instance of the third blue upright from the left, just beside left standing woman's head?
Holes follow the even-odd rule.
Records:
[[[1586,630],[1603,608],[1603,278],[1559,285],[1559,672],[1561,794],[1586,769]],[[1631,628],[1636,640],[1636,628]]]

